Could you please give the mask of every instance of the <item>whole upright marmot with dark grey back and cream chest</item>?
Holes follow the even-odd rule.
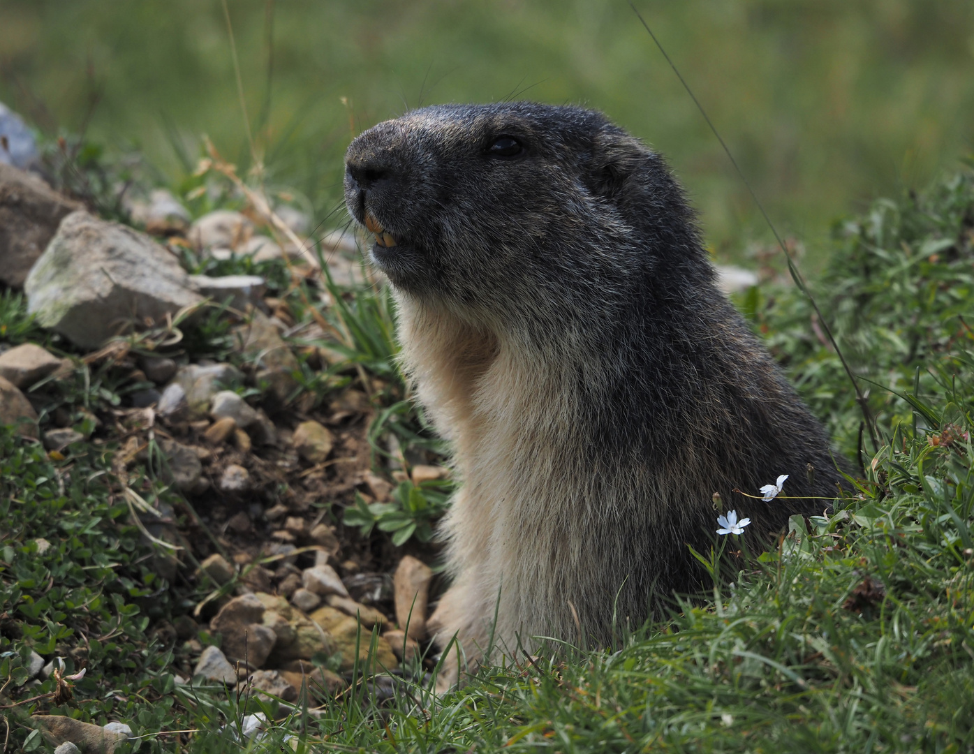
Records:
[[[608,643],[702,583],[688,546],[716,538],[715,492],[756,545],[836,497],[828,437],[715,284],[682,189],[601,113],[425,107],[358,135],[346,168],[462,480],[441,647]],[[732,492],[780,474],[827,500]]]

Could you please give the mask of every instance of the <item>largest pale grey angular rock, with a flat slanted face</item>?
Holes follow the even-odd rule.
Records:
[[[61,221],[23,289],[38,323],[82,348],[203,300],[166,248],[85,211]]]

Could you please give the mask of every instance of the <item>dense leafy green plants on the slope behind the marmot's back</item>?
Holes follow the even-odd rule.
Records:
[[[965,169],[900,201],[880,199],[833,229],[835,254],[815,294],[869,389],[880,436],[913,422],[908,395],[943,396],[938,367],[958,368],[963,344],[974,343],[972,207],[974,170]],[[738,303],[843,450],[875,454],[859,439],[862,417],[850,410],[842,364],[804,297],[791,287],[754,287]]]

